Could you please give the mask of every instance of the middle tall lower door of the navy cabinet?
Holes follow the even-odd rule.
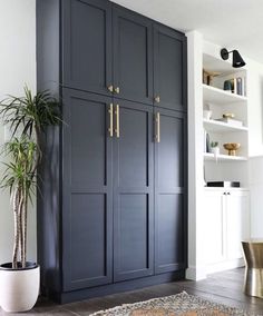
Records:
[[[115,282],[153,274],[152,119],[150,107],[119,101],[119,137],[114,141]]]

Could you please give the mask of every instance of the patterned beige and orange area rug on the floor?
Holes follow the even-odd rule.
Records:
[[[225,316],[253,315],[236,308],[216,304],[183,292],[177,295],[153,298],[135,304],[124,304],[100,310],[90,316]]]

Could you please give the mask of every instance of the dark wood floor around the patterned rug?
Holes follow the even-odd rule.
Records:
[[[99,309],[110,308],[125,303],[135,303],[154,297],[174,295],[182,290],[216,303],[245,309],[253,313],[253,315],[263,315],[263,299],[249,297],[243,294],[243,276],[244,269],[238,268],[211,275],[205,280],[184,280],[162,284],[139,290],[115,294],[103,298],[92,298],[60,306],[48,300],[40,299],[30,313],[25,313],[22,315],[89,315]],[[0,315],[6,314],[0,312]],[[18,315],[21,316],[21,314]]]

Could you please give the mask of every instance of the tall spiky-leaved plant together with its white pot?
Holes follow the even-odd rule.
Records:
[[[27,260],[28,204],[37,189],[37,169],[42,159],[41,135],[60,122],[59,103],[49,91],[9,97],[0,115],[12,132],[3,146],[8,156],[1,185],[10,190],[14,220],[12,261],[0,265],[0,306],[6,312],[33,307],[39,292],[39,266]]]

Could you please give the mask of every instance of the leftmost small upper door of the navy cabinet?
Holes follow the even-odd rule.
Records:
[[[110,2],[65,0],[62,10],[62,85],[111,95]]]

